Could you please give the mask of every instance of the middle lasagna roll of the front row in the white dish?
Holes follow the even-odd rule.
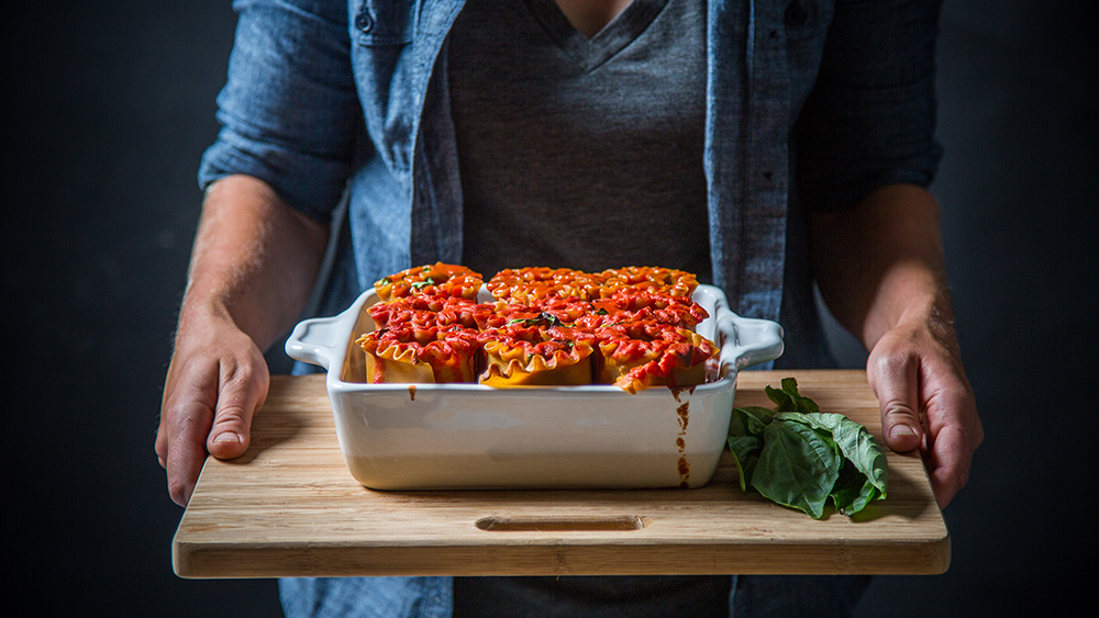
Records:
[[[478,381],[495,387],[590,384],[595,337],[555,317],[513,318],[478,337],[485,371]]]

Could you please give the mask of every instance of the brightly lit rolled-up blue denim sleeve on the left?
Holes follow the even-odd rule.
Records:
[[[237,0],[235,45],[218,95],[217,142],[199,184],[230,173],[269,183],[328,221],[351,170],[362,111],[352,77],[346,2]]]

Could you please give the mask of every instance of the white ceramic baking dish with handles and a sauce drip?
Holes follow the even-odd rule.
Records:
[[[301,322],[286,344],[328,370],[347,468],[376,490],[702,486],[725,446],[737,372],[782,353],[778,324],[737,316],[720,289],[699,285],[710,317],[697,329],[721,353],[692,389],[369,384],[355,339],[374,329],[377,301],[368,290],[340,315]]]

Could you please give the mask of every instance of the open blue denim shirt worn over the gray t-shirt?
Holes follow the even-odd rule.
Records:
[[[782,325],[776,367],[828,367],[806,216],[885,184],[931,183],[940,2],[707,1],[712,281],[737,313]],[[222,128],[200,184],[252,175],[321,222],[346,195],[319,313],[344,308],[387,273],[460,262],[446,41],[463,0],[233,4]]]

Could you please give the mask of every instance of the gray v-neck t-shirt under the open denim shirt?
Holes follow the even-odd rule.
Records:
[[[633,0],[589,40],[554,0],[469,0],[447,49],[465,265],[710,279],[703,2]]]

